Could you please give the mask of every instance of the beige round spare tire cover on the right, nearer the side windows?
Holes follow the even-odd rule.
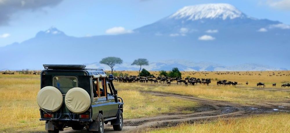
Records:
[[[68,90],[64,103],[68,110],[73,113],[83,113],[90,108],[90,95],[83,88],[75,87]]]

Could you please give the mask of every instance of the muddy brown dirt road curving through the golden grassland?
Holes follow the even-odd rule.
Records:
[[[269,112],[289,112],[290,105],[273,103],[263,106],[244,106],[240,104],[233,104],[225,101],[215,101],[209,99],[202,99],[197,97],[188,97],[181,95],[173,95],[160,92],[148,92],[140,91],[141,93],[148,93],[156,96],[168,96],[176,97],[179,99],[187,99],[191,101],[198,102],[202,104],[203,109],[198,110],[199,112],[194,112],[191,114],[173,114],[173,115],[162,115],[157,117],[146,117],[138,119],[128,119],[124,120],[124,127],[122,132],[134,132],[137,130],[142,130],[146,128],[161,128],[177,125],[180,122],[193,122],[200,120],[211,120],[218,117],[244,117],[253,114],[269,113]],[[62,131],[62,133],[69,132],[87,132],[86,130],[71,130],[67,129]],[[105,132],[115,132],[110,124],[105,126]]]

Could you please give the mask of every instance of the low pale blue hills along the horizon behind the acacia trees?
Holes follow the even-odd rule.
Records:
[[[104,70],[110,70],[110,67],[99,64],[95,62],[92,64],[86,64],[87,68],[99,68]],[[151,62],[148,66],[142,66],[147,70],[151,71],[160,71],[166,70],[169,71],[173,67],[177,67],[180,71],[278,71],[278,70],[287,70],[284,68],[274,68],[271,66],[260,65],[260,64],[240,64],[234,66],[224,66],[221,64],[215,64],[211,62],[189,62],[186,60],[166,60],[160,62]],[[114,70],[139,70],[139,66],[132,66],[131,63],[124,62],[123,64],[116,65]]]

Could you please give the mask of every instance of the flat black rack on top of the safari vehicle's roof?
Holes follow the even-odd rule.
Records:
[[[44,69],[73,69],[84,70],[86,65],[57,65],[57,64],[43,64]]]

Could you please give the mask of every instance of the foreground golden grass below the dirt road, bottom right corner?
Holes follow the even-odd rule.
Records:
[[[267,114],[247,118],[218,119],[217,121],[203,123],[182,123],[176,127],[163,128],[157,130],[145,131],[149,133],[245,133],[245,132],[263,132],[263,133],[288,133],[290,130],[290,114]],[[142,131],[143,132],[143,131]]]

